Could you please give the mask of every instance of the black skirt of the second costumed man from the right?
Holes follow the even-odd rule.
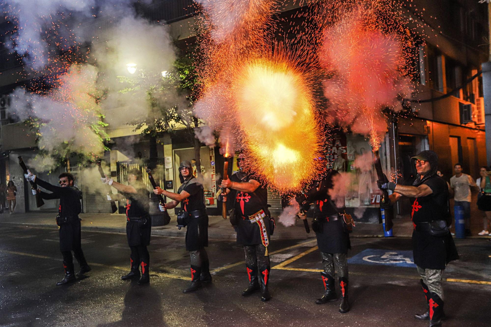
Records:
[[[319,250],[327,253],[347,253],[351,248],[350,235],[343,230],[341,219],[324,222],[322,233],[315,233]]]

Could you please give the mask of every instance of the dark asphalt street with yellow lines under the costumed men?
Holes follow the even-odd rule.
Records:
[[[151,281],[139,286],[120,279],[129,270],[126,235],[84,230],[82,247],[92,271],[55,286],[63,277],[56,226],[0,220],[0,228],[0,326],[428,326],[413,318],[425,306],[406,237],[352,238],[352,309],[340,314],[339,301],[314,303],[324,290],[314,239],[273,236],[273,299],[263,303],[259,294],[240,295],[248,279],[243,249],[233,240],[210,241],[213,283],[183,294],[190,273],[182,237],[152,236]],[[461,259],[445,271],[449,319],[443,326],[489,327],[491,242],[456,244]]]

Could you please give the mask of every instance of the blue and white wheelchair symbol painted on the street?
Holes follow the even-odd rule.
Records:
[[[348,259],[349,263],[361,265],[383,265],[397,267],[416,267],[412,251],[387,251],[368,248]]]

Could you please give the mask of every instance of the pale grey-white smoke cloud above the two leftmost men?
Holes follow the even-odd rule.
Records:
[[[53,74],[50,53],[65,50],[74,43],[89,42],[89,56],[85,63],[72,65],[61,74],[58,85],[48,94],[30,93],[24,88],[14,90],[11,109],[19,119],[39,118],[44,124],[38,129],[39,148],[51,155],[63,147],[90,155],[104,151],[102,139],[94,128],[107,122],[118,128],[135,119],[161,118],[152,112],[148,88],[162,82],[161,72],[172,69],[176,58],[168,27],[137,17],[134,0],[39,0],[36,5],[27,0],[8,0],[7,15],[16,17],[19,30],[5,45],[19,54],[26,54],[26,70]],[[151,0],[139,1],[150,3]],[[53,30],[51,22],[59,22]],[[48,23],[47,23],[48,22]],[[46,37],[45,25],[52,28]],[[55,32],[54,32],[55,31]],[[58,42],[64,39],[64,42]],[[127,64],[135,63],[136,72],[130,74]],[[51,66],[51,67],[50,67]],[[126,78],[128,83],[121,83]],[[52,81],[50,80],[50,83]],[[131,84],[131,92],[120,92]],[[171,90],[166,99],[157,101],[184,106],[185,99]],[[172,107],[173,105],[170,105]],[[44,161],[44,169],[52,159]]]

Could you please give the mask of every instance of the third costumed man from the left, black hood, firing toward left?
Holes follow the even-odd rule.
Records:
[[[201,288],[201,283],[210,283],[210,261],[205,246],[208,246],[208,215],[206,214],[203,185],[192,175],[191,163],[187,160],[179,165],[181,186],[177,193],[162,190],[157,187],[154,193],[163,194],[172,199],[165,204],[165,209],[175,208],[181,203],[178,215],[178,226],[187,226],[186,250],[191,258],[191,285],[183,291],[189,293]],[[159,204],[161,211],[164,206]]]

